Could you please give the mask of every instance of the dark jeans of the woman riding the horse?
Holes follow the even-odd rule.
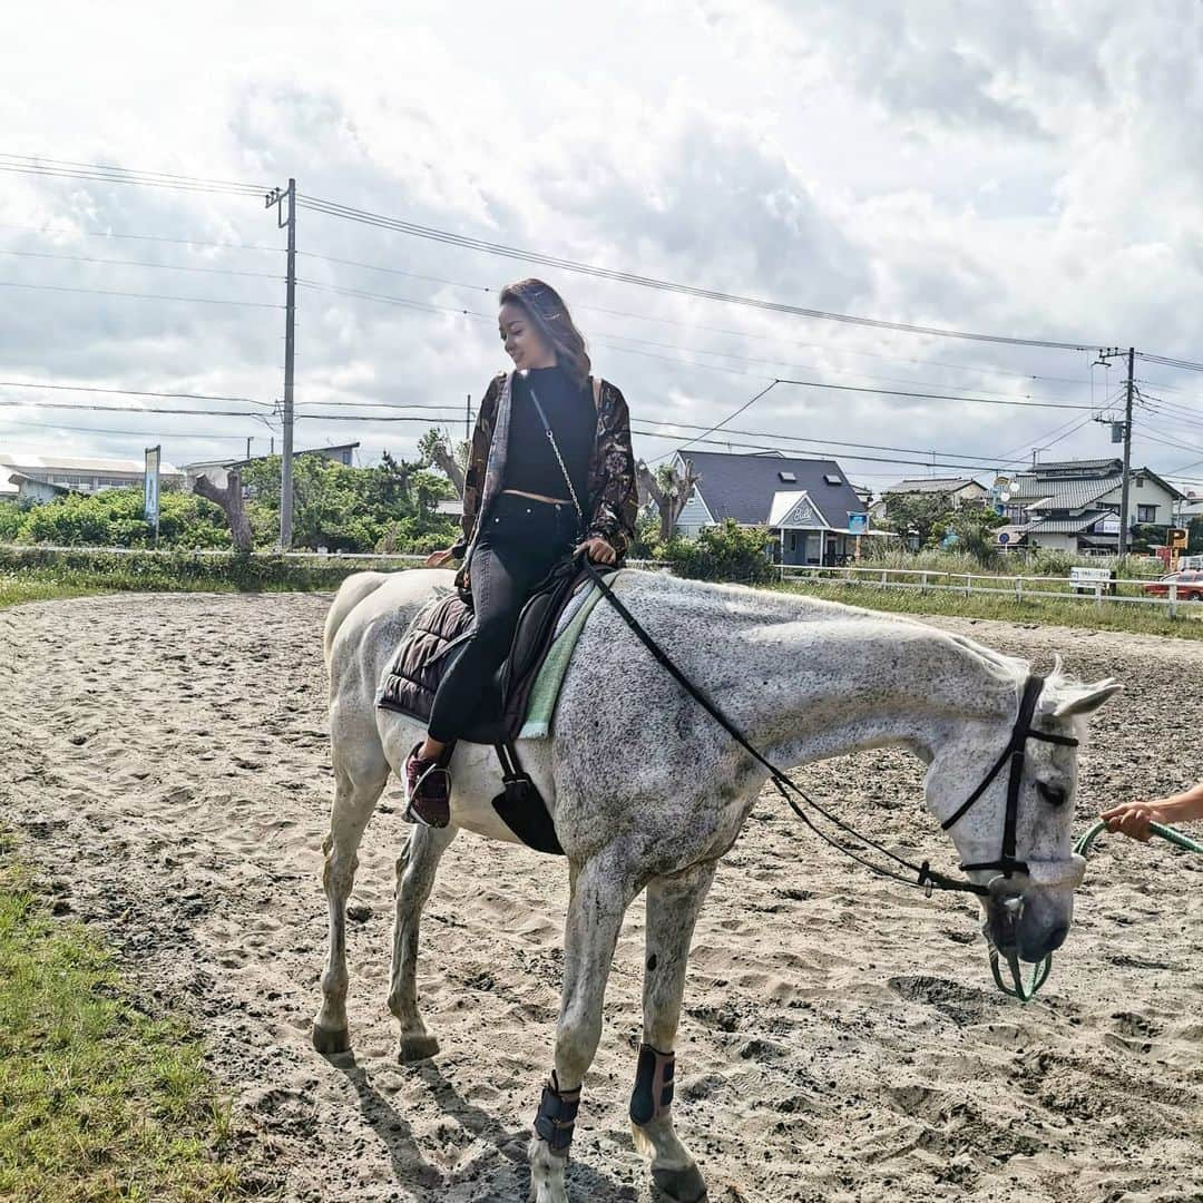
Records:
[[[472,721],[488,682],[509,654],[518,612],[534,586],[576,543],[571,502],[498,493],[472,550],[468,583],[473,634],[439,682],[427,734],[449,743]]]

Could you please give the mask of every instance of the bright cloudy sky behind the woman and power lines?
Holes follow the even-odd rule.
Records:
[[[923,463],[989,479],[1033,448],[1112,454],[1092,417],[1124,366],[1092,367],[1097,348],[1203,360],[1197,0],[247,10],[20,6],[0,152],[294,176],[309,197],[656,280],[1096,349],[772,312],[302,208],[298,446],[358,440],[367,463],[413,456],[435,422],[462,432],[466,397],[508,365],[494,294],[526,274],[567,297],[648,461],[790,378],[842,389],[778,384],[697,445],[838,454],[877,487]],[[273,425],[278,448],[283,245],[259,196],[0,171],[0,450],[161,443],[178,464],[247,437],[266,451]],[[1203,373],[1140,358],[1137,378],[1136,461],[1203,481]],[[858,391],[875,389],[942,397]]]

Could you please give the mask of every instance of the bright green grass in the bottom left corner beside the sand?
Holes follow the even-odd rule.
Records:
[[[111,953],[52,917],[0,834],[0,1198],[263,1198],[198,1039],[140,1011]]]

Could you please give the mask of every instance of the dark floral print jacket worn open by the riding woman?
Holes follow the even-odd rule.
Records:
[[[627,557],[635,538],[639,492],[635,457],[630,448],[630,416],[618,389],[599,377],[591,377],[598,423],[589,457],[589,496],[582,502],[586,538],[599,535],[614,547],[617,562]],[[468,468],[463,480],[463,534],[452,547],[462,559],[455,583],[466,588],[472,549],[481,529],[481,518],[502,491],[509,444],[512,372],[498,372],[480,402],[476,428],[472,434]]]

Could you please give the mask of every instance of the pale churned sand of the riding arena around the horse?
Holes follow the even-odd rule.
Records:
[[[309,1045],[326,938],[326,595],[119,595],[0,611],[0,820],[60,909],[96,923],[213,1071],[290,1199],[511,1201],[550,1066],[563,863],[461,835],[419,968],[437,1060],[392,1061],[385,1008],[396,792],[361,852],[354,1056]],[[1203,644],[940,621],[1126,693],[1083,754],[1079,820],[1203,769]],[[648,671],[653,671],[648,665]],[[699,721],[704,721],[699,717]],[[896,752],[808,768],[866,830],[952,864]],[[1203,864],[1100,842],[1053,979],[995,994],[976,907],[926,900],[818,845],[765,793],[694,943],[677,1126],[734,1201],[1203,1198]],[[626,1118],[641,906],[586,1081],[574,1201],[646,1201]]]

